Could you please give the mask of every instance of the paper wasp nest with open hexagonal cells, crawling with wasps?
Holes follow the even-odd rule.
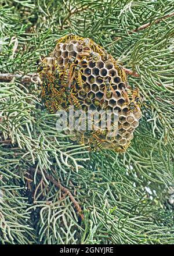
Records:
[[[38,73],[42,98],[51,113],[60,109],[68,112],[72,105],[86,113],[110,111],[114,129],[112,111],[118,112],[115,136],[110,136],[108,129],[67,130],[66,133],[75,135],[77,143],[88,145],[93,151],[124,152],[128,148],[142,116],[139,91],[128,86],[126,74],[113,56],[89,38],[66,35],[57,40],[54,51],[39,64]],[[99,127],[101,120],[102,117]]]

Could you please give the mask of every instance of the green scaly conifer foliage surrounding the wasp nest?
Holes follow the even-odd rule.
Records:
[[[124,154],[58,133],[34,83],[0,83],[0,244],[169,244],[173,239],[172,0],[2,0],[1,73],[35,73],[73,32],[139,77],[143,118]],[[146,29],[134,31],[150,22]],[[82,208],[75,207],[68,189]]]

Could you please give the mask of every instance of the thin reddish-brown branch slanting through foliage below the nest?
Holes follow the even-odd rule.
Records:
[[[30,168],[30,169],[32,170],[32,172],[35,172],[35,169],[33,169],[33,168]],[[39,175],[42,175],[42,172],[40,172],[39,170],[37,171],[37,173]],[[59,187],[59,189],[61,191],[63,191],[64,193],[66,193],[68,195],[70,200],[73,202],[74,207],[77,210],[79,216],[81,217],[82,220],[84,220],[84,214],[82,214],[82,208],[80,207],[79,203],[75,200],[75,198],[74,198],[73,194],[71,194],[70,190],[68,190],[68,189],[66,189],[66,187],[62,186],[60,184],[60,182],[57,182],[57,180],[53,179],[52,176],[46,175],[45,173],[44,173],[44,175],[45,175],[46,179],[50,180],[50,182],[55,184],[56,187]]]

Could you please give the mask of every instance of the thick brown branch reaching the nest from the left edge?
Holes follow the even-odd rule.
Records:
[[[39,83],[41,80],[38,76],[38,74],[10,74],[10,73],[5,73],[1,74],[0,73],[0,81],[2,82],[8,82],[12,81],[13,79],[21,79],[23,83]]]

